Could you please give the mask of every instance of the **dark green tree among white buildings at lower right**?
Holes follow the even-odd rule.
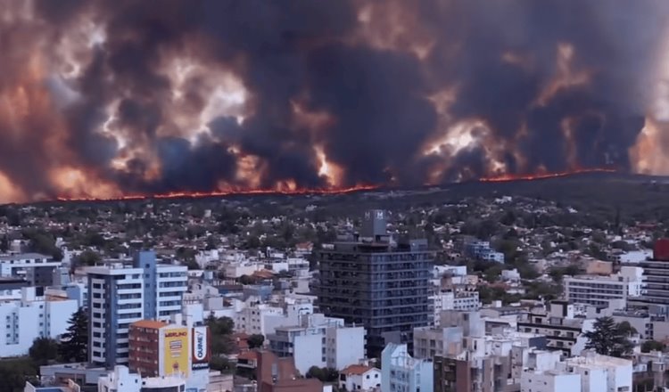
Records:
[[[632,354],[634,345],[613,317],[599,317],[594,329],[585,332],[584,336],[588,339],[585,348],[594,348],[598,354],[617,357]]]

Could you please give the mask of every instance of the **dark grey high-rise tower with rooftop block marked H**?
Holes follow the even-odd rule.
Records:
[[[426,240],[392,241],[386,213],[369,211],[360,233],[318,252],[318,301],[323,313],[363,325],[368,355],[388,342],[413,343],[413,329],[429,323],[434,252]]]

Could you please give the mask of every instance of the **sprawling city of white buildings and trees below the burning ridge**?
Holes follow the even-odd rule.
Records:
[[[5,205],[3,388],[665,388],[666,221],[595,211],[586,183],[669,187],[575,174]]]

